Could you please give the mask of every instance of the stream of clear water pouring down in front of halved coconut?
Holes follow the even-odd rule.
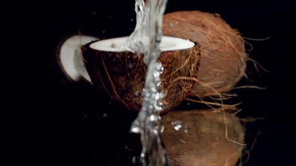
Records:
[[[136,0],[137,24],[124,47],[129,51],[144,53],[148,66],[143,90],[142,109],[131,125],[131,132],[141,134],[141,162],[144,166],[167,166],[166,150],[163,147],[163,124],[159,112],[164,109],[159,92],[160,75],[164,68],[157,62],[162,38],[162,21],[167,0]]]

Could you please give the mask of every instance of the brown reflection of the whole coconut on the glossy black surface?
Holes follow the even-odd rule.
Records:
[[[238,117],[226,113],[228,138],[240,144],[227,140],[223,117],[223,113],[198,110],[164,116],[163,139],[170,166],[234,166],[241,155],[238,149],[244,130]],[[176,121],[182,125],[176,126]]]

